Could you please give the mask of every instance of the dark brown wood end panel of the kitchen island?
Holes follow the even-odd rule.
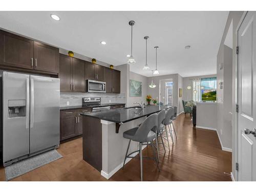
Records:
[[[100,172],[102,169],[102,129],[100,119],[83,116],[82,122],[83,160]]]

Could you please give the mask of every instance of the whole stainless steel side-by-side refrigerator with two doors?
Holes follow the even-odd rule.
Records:
[[[59,79],[3,72],[3,162],[59,145]]]

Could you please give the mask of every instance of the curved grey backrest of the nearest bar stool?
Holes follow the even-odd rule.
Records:
[[[139,126],[132,140],[138,142],[146,142],[148,133],[157,127],[157,114],[148,116],[143,123]]]

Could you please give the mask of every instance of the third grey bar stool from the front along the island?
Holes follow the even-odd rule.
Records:
[[[163,132],[165,132],[165,136],[162,135],[162,137],[165,140],[167,140],[169,151],[170,151],[170,145],[169,145],[168,137],[170,137],[172,139],[172,141],[174,142],[173,133],[172,133],[172,131],[170,131],[170,124],[172,124],[172,121],[170,121],[171,120],[170,118],[172,118],[173,115],[174,115],[174,109],[169,108],[167,110],[167,112],[165,113],[165,118],[163,120],[164,128],[163,128],[162,134],[163,134]],[[169,135],[168,135],[168,133],[169,133]]]

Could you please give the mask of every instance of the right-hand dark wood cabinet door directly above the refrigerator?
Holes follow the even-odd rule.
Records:
[[[59,49],[34,41],[34,69],[58,73]]]

